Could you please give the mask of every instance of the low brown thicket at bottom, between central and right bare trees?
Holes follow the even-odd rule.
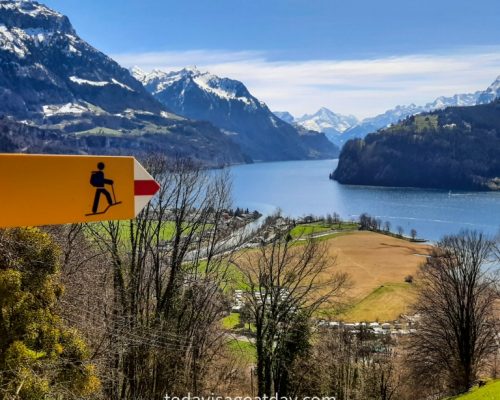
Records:
[[[314,344],[294,365],[293,396],[334,396],[338,400],[401,398],[401,379],[389,335],[361,327],[318,327]]]

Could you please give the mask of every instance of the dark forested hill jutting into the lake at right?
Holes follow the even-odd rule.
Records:
[[[412,116],[346,143],[345,184],[500,190],[500,101]]]

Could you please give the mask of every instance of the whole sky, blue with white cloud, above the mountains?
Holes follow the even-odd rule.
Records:
[[[46,0],[125,66],[197,65],[272,109],[369,116],[500,75],[498,0]]]

